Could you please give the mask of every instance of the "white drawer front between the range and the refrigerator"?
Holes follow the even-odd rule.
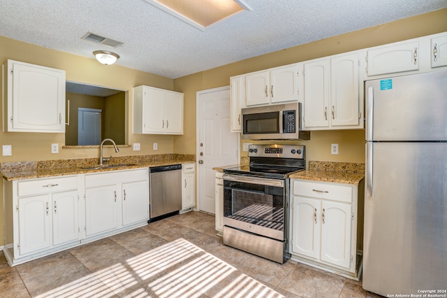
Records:
[[[293,194],[346,203],[352,202],[352,187],[349,185],[293,180]]]

